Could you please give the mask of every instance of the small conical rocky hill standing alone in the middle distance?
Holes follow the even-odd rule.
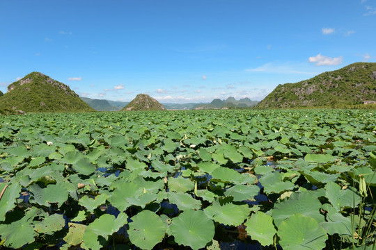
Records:
[[[137,94],[136,98],[128,103],[121,111],[127,110],[166,110],[166,108],[148,94]]]

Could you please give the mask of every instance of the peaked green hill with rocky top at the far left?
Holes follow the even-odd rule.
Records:
[[[0,97],[0,110],[26,113],[93,111],[70,88],[39,72],[32,72],[8,86]]]

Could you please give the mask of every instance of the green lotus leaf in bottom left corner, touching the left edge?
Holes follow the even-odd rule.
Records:
[[[18,249],[34,241],[34,227],[26,219],[20,219],[11,224],[0,224],[0,235],[6,247]]]

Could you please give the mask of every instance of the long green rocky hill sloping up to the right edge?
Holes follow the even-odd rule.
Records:
[[[341,107],[376,101],[376,63],[353,63],[299,83],[278,85],[257,108]]]

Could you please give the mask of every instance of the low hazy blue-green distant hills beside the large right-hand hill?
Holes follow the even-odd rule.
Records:
[[[197,104],[192,109],[218,109],[218,108],[252,108],[258,104],[258,101],[251,101],[249,98],[243,98],[237,101],[234,97],[228,97],[226,100],[214,99],[209,104]]]

